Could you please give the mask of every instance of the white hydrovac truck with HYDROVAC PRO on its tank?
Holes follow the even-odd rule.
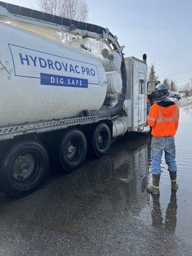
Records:
[[[147,63],[109,29],[0,1],[0,180],[13,196],[42,186],[49,159],[73,172],[87,154],[146,125]],[[72,36],[72,44],[61,40]],[[100,56],[87,40],[106,44]]]

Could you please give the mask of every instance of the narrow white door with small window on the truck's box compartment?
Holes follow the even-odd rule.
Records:
[[[138,126],[145,124],[146,122],[146,88],[147,81],[146,76],[143,73],[139,73],[139,90],[138,90]]]

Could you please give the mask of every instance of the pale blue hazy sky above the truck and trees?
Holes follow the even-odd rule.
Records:
[[[36,8],[36,0],[4,0]],[[192,0],[86,0],[88,22],[109,28],[125,56],[155,64],[159,80],[178,86],[192,79]],[[192,81],[192,80],[191,80]]]

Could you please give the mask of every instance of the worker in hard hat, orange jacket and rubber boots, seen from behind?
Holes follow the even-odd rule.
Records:
[[[147,122],[152,127],[152,185],[147,191],[159,195],[161,175],[161,157],[164,150],[166,164],[170,172],[172,190],[177,191],[177,165],[175,162],[175,133],[179,124],[179,107],[168,99],[168,88],[165,84],[157,84],[156,101],[150,107]]]

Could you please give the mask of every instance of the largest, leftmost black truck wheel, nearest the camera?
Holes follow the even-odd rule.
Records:
[[[49,155],[36,141],[21,141],[6,153],[1,164],[3,188],[15,197],[26,196],[39,188],[49,170]]]

